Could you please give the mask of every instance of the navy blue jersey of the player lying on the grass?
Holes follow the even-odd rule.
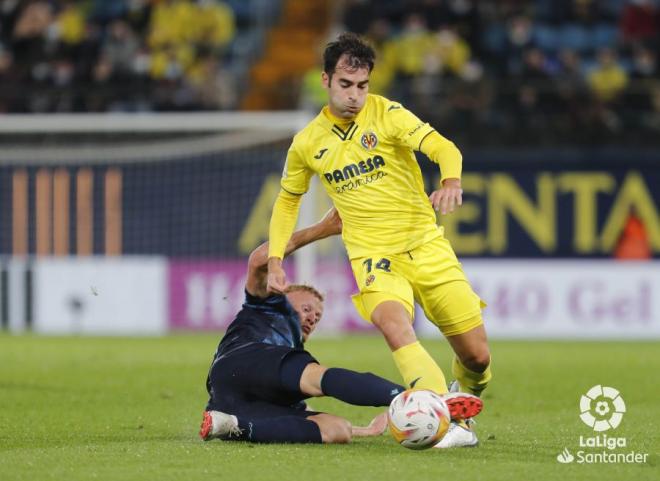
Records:
[[[260,298],[245,292],[243,308],[218,345],[216,359],[236,349],[263,343],[301,349],[302,329],[298,314],[283,295]]]

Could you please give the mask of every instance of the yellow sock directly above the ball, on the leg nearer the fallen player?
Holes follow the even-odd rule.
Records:
[[[419,341],[400,347],[392,353],[392,356],[407,386],[415,389],[430,389],[438,394],[447,392],[447,381],[442,369]]]

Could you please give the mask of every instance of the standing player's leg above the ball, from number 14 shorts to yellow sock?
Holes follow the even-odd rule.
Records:
[[[383,334],[404,383],[443,394],[447,392],[445,376],[412,327],[414,297],[406,278],[410,260],[405,254],[353,259],[351,267],[360,288],[353,303]]]

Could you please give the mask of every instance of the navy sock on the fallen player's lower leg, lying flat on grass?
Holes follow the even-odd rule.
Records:
[[[237,417],[242,433],[231,439],[253,443],[321,443],[318,424],[299,416],[264,419]]]

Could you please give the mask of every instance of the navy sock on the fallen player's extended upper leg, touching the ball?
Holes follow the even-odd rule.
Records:
[[[389,406],[405,388],[370,372],[333,367],[323,374],[321,390],[326,396],[356,406]]]

